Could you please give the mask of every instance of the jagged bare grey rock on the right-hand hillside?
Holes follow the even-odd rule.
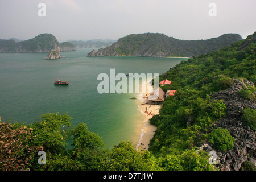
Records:
[[[226,105],[226,115],[216,121],[212,127],[208,129],[210,133],[213,129],[220,127],[221,129],[228,129],[230,135],[235,138],[234,147],[232,150],[223,152],[220,150],[212,149],[210,143],[205,141],[201,149],[205,151],[216,152],[216,166],[225,171],[238,171],[241,165],[246,160],[256,166],[256,137],[255,131],[251,130],[249,126],[243,125],[242,109],[250,107],[256,110],[256,103],[253,100],[241,98],[238,94],[247,85],[254,86],[253,82],[234,80],[234,85],[226,90],[212,94],[213,100],[224,100]]]

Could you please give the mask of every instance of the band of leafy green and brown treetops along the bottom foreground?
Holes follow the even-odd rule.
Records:
[[[213,170],[205,152],[186,150],[180,155],[155,158],[137,151],[131,142],[120,142],[111,150],[85,123],[71,125],[69,115],[43,114],[31,125],[0,123],[1,170]],[[46,152],[46,165],[37,155]]]

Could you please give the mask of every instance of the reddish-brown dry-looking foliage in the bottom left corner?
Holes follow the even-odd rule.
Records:
[[[43,147],[30,146],[30,141],[34,138],[32,128],[26,126],[16,129],[10,123],[0,122],[0,169],[24,170],[34,154]]]

